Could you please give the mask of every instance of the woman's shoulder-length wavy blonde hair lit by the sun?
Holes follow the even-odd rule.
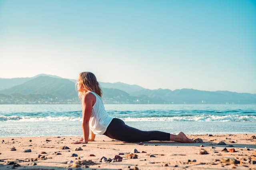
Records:
[[[98,94],[100,97],[102,96],[102,90],[100,88],[100,84],[96,79],[96,76],[92,72],[81,72],[78,77],[78,82],[80,82],[84,89],[87,91],[94,92]],[[82,100],[83,94],[78,92],[78,97]]]

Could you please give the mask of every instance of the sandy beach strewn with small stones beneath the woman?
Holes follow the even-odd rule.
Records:
[[[0,137],[0,169],[256,170],[256,134],[187,136],[196,143],[126,143],[96,136],[88,144],[71,144],[81,137]]]

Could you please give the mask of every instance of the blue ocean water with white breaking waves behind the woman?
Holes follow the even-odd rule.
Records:
[[[144,130],[256,133],[256,105],[106,104],[111,117]],[[82,136],[80,104],[0,105],[0,137]]]

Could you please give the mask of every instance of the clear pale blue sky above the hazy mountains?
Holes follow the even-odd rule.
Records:
[[[256,93],[255,0],[0,0],[0,78]]]

